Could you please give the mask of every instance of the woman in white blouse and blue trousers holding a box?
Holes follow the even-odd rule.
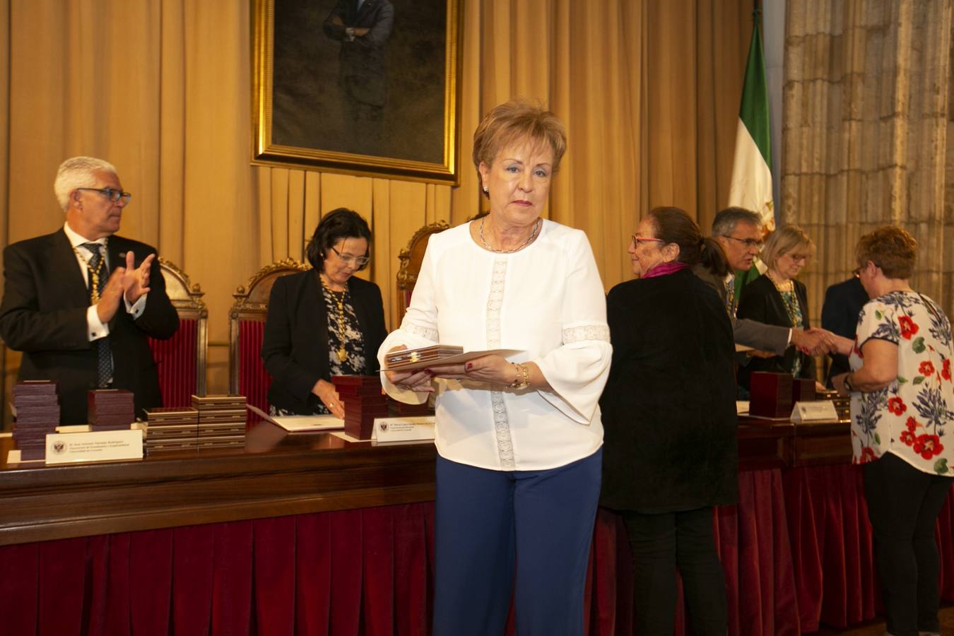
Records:
[[[473,161],[490,212],[431,236],[379,351],[521,351],[383,375],[397,400],[436,392],[435,636],[503,633],[511,593],[518,634],[583,633],[612,348],[586,235],[540,216],[565,149],[553,113],[487,114]]]

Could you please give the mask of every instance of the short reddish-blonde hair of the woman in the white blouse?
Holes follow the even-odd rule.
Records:
[[[560,159],[567,152],[567,131],[563,122],[539,104],[511,99],[494,106],[474,132],[471,158],[477,169],[477,182],[480,183],[482,162],[487,166],[492,165],[498,153],[522,140],[550,144],[553,150],[553,172],[556,172]]]

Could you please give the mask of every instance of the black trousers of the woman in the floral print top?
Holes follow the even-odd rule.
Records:
[[[893,453],[863,470],[887,631],[894,636],[941,631],[934,526],[954,478],[924,473]]]

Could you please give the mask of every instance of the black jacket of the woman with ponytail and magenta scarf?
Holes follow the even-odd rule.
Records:
[[[601,503],[645,513],[736,502],[735,348],[725,303],[683,270],[607,297]]]

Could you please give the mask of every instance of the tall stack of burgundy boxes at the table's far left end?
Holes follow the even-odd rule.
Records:
[[[47,457],[47,434],[59,426],[59,399],[56,382],[27,380],[13,385],[13,406],[16,422],[13,441],[20,449],[20,460],[44,460]]]

